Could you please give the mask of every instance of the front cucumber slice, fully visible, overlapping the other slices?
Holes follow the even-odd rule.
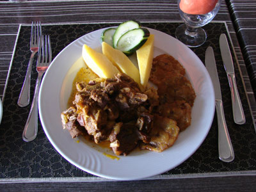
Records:
[[[119,38],[116,49],[119,49],[125,54],[134,52],[145,44],[149,35],[150,32],[146,28],[138,28],[127,31]]]

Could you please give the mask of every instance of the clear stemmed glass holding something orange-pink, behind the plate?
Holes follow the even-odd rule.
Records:
[[[188,47],[199,47],[200,45],[204,44],[207,35],[202,29],[202,26],[205,26],[211,20],[215,17],[215,15],[218,13],[220,10],[221,6],[221,0],[206,0],[205,2],[209,1],[214,1],[213,3],[216,2],[216,5],[212,8],[212,10],[209,10],[209,12],[204,13],[200,12],[200,6],[198,4],[198,10],[195,11],[195,13],[185,13],[180,9],[180,1],[186,1],[188,3],[188,0],[178,0],[178,8],[179,8],[179,13],[180,17],[182,20],[184,20],[185,24],[180,25],[176,31],[175,31],[175,36],[177,39],[180,40],[180,42],[188,45]],[[191,3],[195,3],[196,1],[190,0]],[[203,1],[200,0],[202,3]],[[183,3],[184,4],[184,3]],[[189,5],[188,5],[189,6]],[[196,6],[196,4],[193,4],[193,6]],[[196,13],[198,12],[198,14]]]

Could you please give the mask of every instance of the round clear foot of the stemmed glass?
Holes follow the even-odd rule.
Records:
[[[189,33],[189,31],[186,31],[186,29],[186,24],[182,24],[175,31],[175,36],[180,40],[180,42],[188,45],[188,47],[199,47],[200,45],[204,44],[207,37],[204,29],[197,28],[196,33]]]

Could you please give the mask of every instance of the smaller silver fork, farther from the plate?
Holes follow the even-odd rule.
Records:
[[[40,35],[42,35],[42,28],[41,28],[41,22],[32,22],[31,24],[31,36],[30,36],[30,51],[31,56],[28,63],[28,69],[26,73],[26,77],[20,92],[20,96],[18,99],[18,106],[20,107],[26,107],[29,104],[30,100],[30,76],[31,76],[31,70],[32,70],[32,63],[33,58],[38,52],[38,49],[40,49],[39,46],[39,39]]]

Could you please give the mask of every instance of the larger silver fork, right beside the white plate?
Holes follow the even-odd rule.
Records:
[[[42,76],[52,61],[50,36],[42,35],[40,38],[40,45],[42,45],[42,49],[39,49],[38,51],[38,58],[36,63],[36,71],[38,72],[38,77],[36,79],[36,88],[33,102],[31,104],[31,109],[29,111],[28,120],[22,133],[22,139],[24,141],[33,141],[36,138],[38,130],[38,92]]]

